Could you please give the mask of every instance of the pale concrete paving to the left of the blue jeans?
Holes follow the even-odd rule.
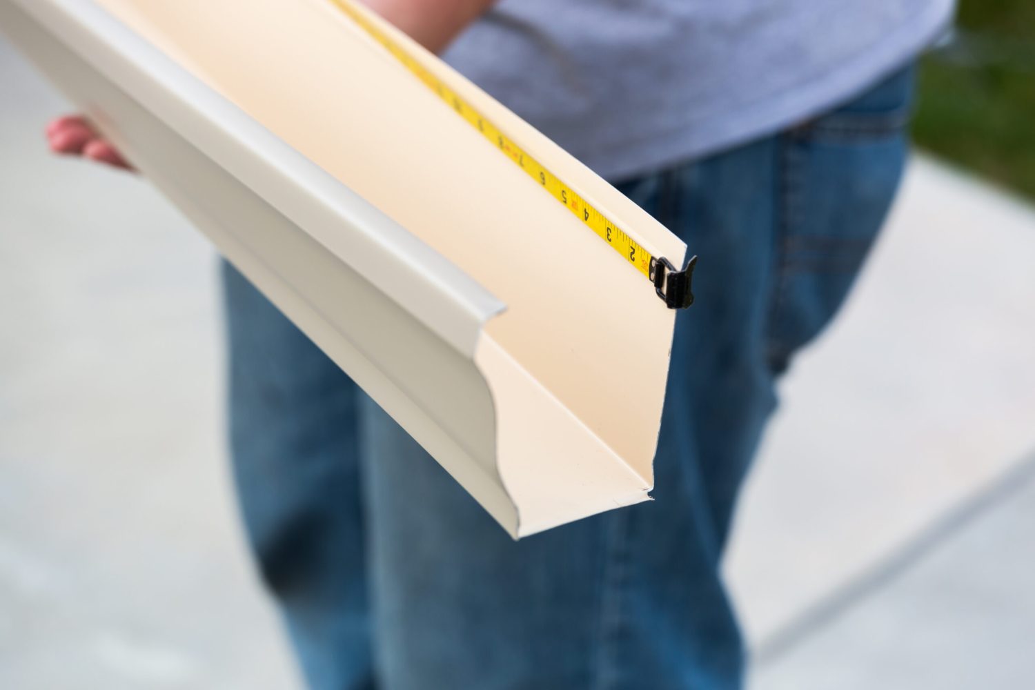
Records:
[[[221,438],[215,257],[147,184],[48,155],[0,40],[0,688],[289,688]]]

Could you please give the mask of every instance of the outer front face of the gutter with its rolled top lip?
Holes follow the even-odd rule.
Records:
[[[92,3],[0,0],[0,27],[220,252],[516,532],[494,470],[492,397],[473,363],[482,326],[505,308],[500,300]]]

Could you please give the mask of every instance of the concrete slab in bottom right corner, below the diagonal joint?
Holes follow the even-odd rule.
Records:
[[[756,690],[1035,685],[1035,456],[761,664]]]

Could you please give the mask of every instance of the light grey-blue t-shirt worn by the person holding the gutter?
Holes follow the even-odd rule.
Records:
[[[915,57],[954,0],[503,0],[445,59],[617,180],[775,132]]]

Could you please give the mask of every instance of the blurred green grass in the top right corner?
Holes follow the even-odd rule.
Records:
[[[963,0],[958,27],[923,61],[916,141],[1035,197],[1035,2]]]

